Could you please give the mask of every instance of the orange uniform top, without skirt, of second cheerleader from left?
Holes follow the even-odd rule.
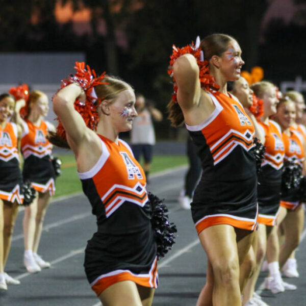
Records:
[[[35,126],[31,121],[25,119],[21,136],[21,150],[24,159],[29,156],[43,158],[52,155],[52,144],[46,139],[48,130],[50,126],[47,121],[41,121],[40,126]]]

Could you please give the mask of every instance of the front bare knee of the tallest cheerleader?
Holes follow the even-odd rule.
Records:
[[[238,259],[227,259],[220,262],[212,263],[214,279],[219,284],[225,286],[239,286],[239,262]]]

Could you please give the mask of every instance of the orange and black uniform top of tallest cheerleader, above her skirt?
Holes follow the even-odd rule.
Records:
[[[202,161],[203,177],[210,181],[256,177],[254,127],[239,100],[209,92],[215,110],[198,125],[186,124]]]

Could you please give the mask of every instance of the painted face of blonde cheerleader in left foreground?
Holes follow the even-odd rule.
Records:
[[[130,131],[133,120],[137,116],[134,91],[127,89],[119,92],[115,101],[109,105],[109,109],[112,123],[117,131]]]

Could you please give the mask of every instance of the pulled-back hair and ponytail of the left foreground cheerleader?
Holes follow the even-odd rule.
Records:
[[[130,84],[122,81],[117,77],[106,77],[103,79],[103,82],[108,84],[99,84],[94,87],[95,93],[99,99],[108,100],[109,103],[113,103],[116,99],[117,95],[127,89],[133,89]],[[54,145],[62,147],[62,148],[69,148],[68,142],[66,139],[60,137],[55,132],[49,132],[47,139]]]

